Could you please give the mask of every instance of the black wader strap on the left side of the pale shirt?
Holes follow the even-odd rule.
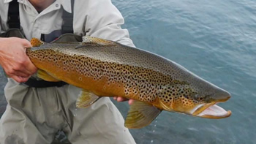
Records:
[[[10,29],[20,29],[20,12],[17,0],[13,0],[9,4],[7,23]]]

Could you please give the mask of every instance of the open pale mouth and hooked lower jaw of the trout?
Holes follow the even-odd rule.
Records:
[[[231,115],[230,110],[226,111],[222,107],[219,107],[216,104],[217,102],[198,105],[192,110],[192,115],[195,115],[201,118],[212,118],[212,119],[227,118]]]

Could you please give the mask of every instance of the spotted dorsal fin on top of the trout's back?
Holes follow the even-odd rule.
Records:
[[[84,45],[116,45],[115,42],[97,37],[83,36]]]

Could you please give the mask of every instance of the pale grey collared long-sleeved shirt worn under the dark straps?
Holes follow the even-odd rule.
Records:
[[[0,34],[9,29],[7,13],[10,1],[0,0]],[[37,12],[29,0],[18,2],[21,31],[29,40],[32,37],[40,39],[41,34],[60,30],[62,11],[71,12],[70,0],[56,0],[42,12]],[[74,8],[74,34],[109,39],[135,47],[127,29],[121,29],[124,18],[110,0],[75,0]]]

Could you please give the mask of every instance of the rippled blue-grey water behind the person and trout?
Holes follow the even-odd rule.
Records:
[[[113,0],[113,4],[138,48],[176,61],[232,94],[219,104],[232,111],[230,118],[163,112],[150,126],[130,130],[137,143],[256,143],[256,1]],[[125,117],[127,103],[115,104]]]

